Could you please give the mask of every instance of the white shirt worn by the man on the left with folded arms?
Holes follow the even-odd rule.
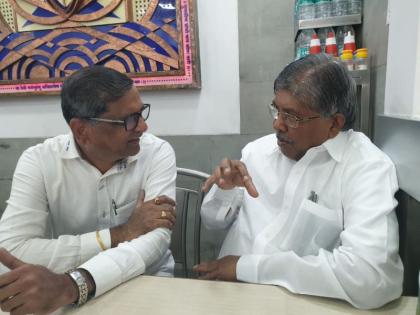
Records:
[[[96,296],[144,272],[171,274],[168,229],[106,251],[95,231],[110,248],[109,228],[127,222],[140,190],[146,201],[158,195],[175,200],[175,179],[172,147],[151,134],[140,138],[137,155],[105,174],[80,157],[71,134],[47,139],[19,159],[0,221],[0,246],[55,272],[85,268],[95,280]]]

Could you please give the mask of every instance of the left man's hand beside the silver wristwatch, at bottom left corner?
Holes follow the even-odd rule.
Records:
[[[12,315],[47,314],[77,300],[69,276],[26,264],[0,248],[0,263],[10,269],[0,275],[0,306]]]

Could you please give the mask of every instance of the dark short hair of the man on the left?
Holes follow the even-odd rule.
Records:
[[[98,117],[133,86],[125,74],[104,66],[92,66],[74,72],[64,80],[61,109],[67,123],[72,118]]]

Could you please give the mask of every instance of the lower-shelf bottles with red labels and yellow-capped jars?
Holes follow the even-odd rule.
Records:
[[[336,32],[332,27],[320,28],[318,33],[313,29],[302,30],[296,41],[296,59],[318,53],[340,56],[348,70],[368,69],[368,51],[356,50],[355,33],[350,25],[340,26]]]

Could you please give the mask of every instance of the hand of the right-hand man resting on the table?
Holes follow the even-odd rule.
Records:
[[[225,256],[223,258],[201,263],[193,267],[200,273],[198,279],[237,281],[236,264],[240,256]]]

